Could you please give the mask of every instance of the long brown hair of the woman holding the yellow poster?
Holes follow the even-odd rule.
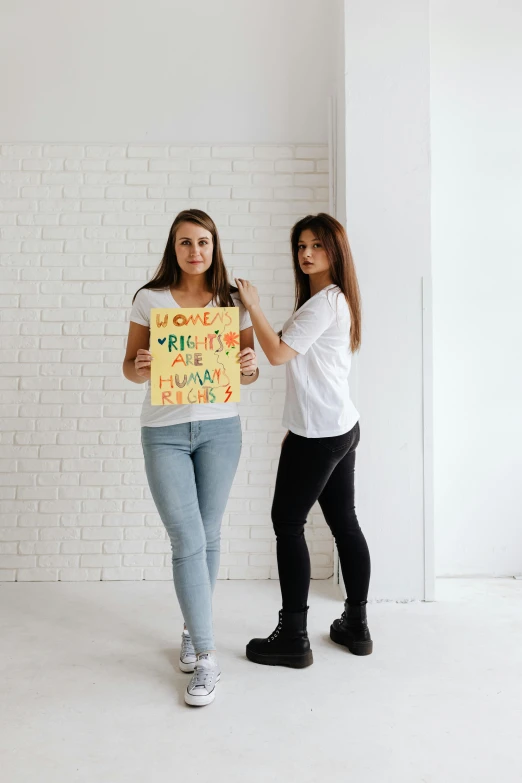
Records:
[[[161,263],[154,272],[152,280],[149,280],[148,283],[142,285],[141,288],[138,288],[138,291],[141,291],[142,288],[151,288],[152,290],[171,288],[172,286],[176,286],[180,281],[181,268],[178,264],[178,259],[176,258],[174,243],[176,241],[176,231],[181,223],[194,223],[196,226],[201,226],[206,229],[212,235],[212,264],[205,272],[206,282],[219,307],[234,307],[234,302],[230,293],[231,291],[237,291],[237,288],[230,285],[228,280],[216,224],[212,218],[201,209],[184,209],[179,215],[176,215],[174,223],[170,227]],[[134,294],[132,301],[136,298],[138,291]]]

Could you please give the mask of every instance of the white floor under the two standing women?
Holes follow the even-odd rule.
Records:
[[[433,604],[368,607],[375,652],[330,642],[314,582],[305,670],[256,666],[277,582],[220,582],[223,677],[183,702],[166,582],[0,585],[3,783],[522,781],[522,582],[443,580]]]

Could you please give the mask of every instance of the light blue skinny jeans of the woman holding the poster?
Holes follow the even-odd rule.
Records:
[[[196,652],[214,650],[221,519],[241,454],[239,416],[142,427],[150,491],[172,546],[174,587]]]

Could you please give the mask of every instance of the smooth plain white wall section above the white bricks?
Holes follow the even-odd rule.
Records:
[[[4,4],[3,141],[325,143],[341,19],[342,0]]]

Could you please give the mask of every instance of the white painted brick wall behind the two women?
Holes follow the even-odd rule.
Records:
[[[143,470],[144,390],[121,362],[134,292],[176,213],[216,221],[230,274],[276,328],[293,304],[289,230],[327,210],[323,146],[0,147],[0,579],[170,579]],[[221,578],[277,578],[270,504],[284,369],[243,388],[244,446],[223,519]],[[313,576],[332,574],[317,509]]]

